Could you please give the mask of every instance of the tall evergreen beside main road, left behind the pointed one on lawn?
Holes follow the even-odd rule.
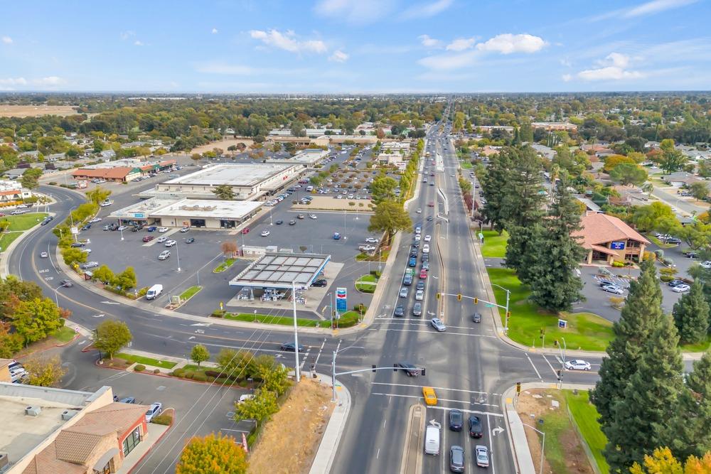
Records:
[[[508,230],[506,244],[506,266],[516,270],[518,278],[528,283],[526,259],[530,252],[538,252],[534,247],[536,225],[540,223],[545,195],[541,172],[542,161],[530,146],[510,149],[513,160],[509,179],[504,188],[505,197],[501,215]],[[488,204],[487,204],[488,205]]]

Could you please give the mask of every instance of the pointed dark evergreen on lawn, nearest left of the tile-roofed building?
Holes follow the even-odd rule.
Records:
[[[531,300],[550,311],[570,309],[580,298],[582,280],[574,270],[585,251],[572,232],[580,229],[580,208],[568,190],[570,177],[562,172],[547,219],[540,225],[530,252]]]

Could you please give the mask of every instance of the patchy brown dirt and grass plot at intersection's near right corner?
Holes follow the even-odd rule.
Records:
[[[551,402],[557,400],[558,408]],[[521,392],[516,406],[523,423],[535,424],[545,431],[545,460],[543,472],[555,474],[594,474],[582,441],[570,421],[565,396],[558,390],[526,390]],[[531,414],[535,414],[531,417]],[[543,419],[542,427],[538,420]],[[532,429],[525,429],[533,465],[540,465],[540,437]]]

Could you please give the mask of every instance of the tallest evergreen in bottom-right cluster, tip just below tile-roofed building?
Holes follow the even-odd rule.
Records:
[[[641,266],[639,278],[630,284],[620,319],[612,325],[615,338],[607,346],[607,357],[600,365],[600,379],[590,395],[603,430],[611,423],[612,405],[624,398],[624,389],[637,370],[649,335],[663,318],[662,291],[654,264],[646,260]]]

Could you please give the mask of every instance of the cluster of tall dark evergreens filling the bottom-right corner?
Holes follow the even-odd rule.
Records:
[[[647,260],[613,325],[615,338],[591,394],[611,472],[644,463],[660,447],[680,459],[711,451],[711,351],[685,376],[678,330],[661,304],[656,269]]]

